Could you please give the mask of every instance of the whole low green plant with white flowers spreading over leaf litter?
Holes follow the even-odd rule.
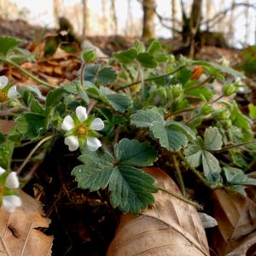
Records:
[[[27,55],[19,50],[21,43],[0,38],[0,60],[48,86],[49,92],[42,96],[36,87],[22,86],[9,99],[13,84],[0,78],[1,108],[9,108],[8,119],[15,117],[9,134],[0,134],[0,166],[8,172],[15,147],[35,144],[20,173],[33,154],[44,157],[60,139],[70,151],[80,152],[81,165],[71,170],[79,188],[108,188],[112,206],[122,212],[138,214],[154,204],[158,190],[200,207],[188,198],[184,171],[209,189],[245,195],[245,186],[256,185],[245,174],[256,159],[251,119],[234,100],[245,86],[241,73],[175,58],[154,39],[147,48],[135,41],[104,64],[96,61],[94,49],[86,50],[78,79],[56,86],[17,64]],[[154,177],[143,172],[153,165],[172,170],[183,195],[157,187]]]

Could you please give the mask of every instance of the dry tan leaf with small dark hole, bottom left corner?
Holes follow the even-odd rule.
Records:
[[[0,255],[6,256],[49,256],[53,236],[46,236],[38,228],[48,228],[49,218],[42,217],[40,203],[30,195],[20,191],[22,206],[15,212],[0,210]]]

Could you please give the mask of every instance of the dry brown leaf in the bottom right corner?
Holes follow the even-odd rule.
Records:
[[[249,176],[256,178],[256,172]],[[224,189],[213,194],[218,230],[212,236],[212,249],[217,255],[245,256],[256,252],[256,189],[246,190],[247,196]]]

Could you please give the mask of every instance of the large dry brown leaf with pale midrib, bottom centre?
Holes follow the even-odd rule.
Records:
[[[161,188],[180,193],[159,168],[145,168]],[[209,255],[205,230],[195,207],[159,191],[155,204],[140,216],[124,214],[108,248],[108,256]]]

